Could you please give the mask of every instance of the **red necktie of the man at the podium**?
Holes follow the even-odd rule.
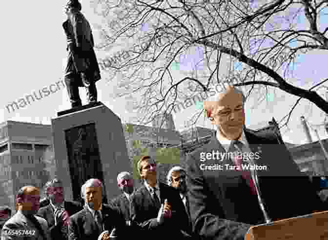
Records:
[[[239,140],[233,140],[233,141],[231,141],[231,146],[229,148],[229,151],[230,152],[241,152],[241,153],[243,153],[244,147],[245,146],[244,146],[244,144],[241,141],[239,141]],[[236,166],[239,166],[239,169],[237,169],[237,170],[242,171],[242,176],[246,180],[247,184],[250,186],[251,193],[254,194],[254,195],[256,195],[257,194],[256,193],[256,188],[255,188],[255,184],[253,182],[253,179],[251,177],[250,171],[249,170],[246,170],[246,169],[243,170],[243,168],[242,168],[243,155],[236,154],[236,155],[234,155],[234,157],[233,157],[232,160],[233,160],[233,162],[234,162],[234,164]],[[245,164],[248,164],[248,163],[245,162]]]

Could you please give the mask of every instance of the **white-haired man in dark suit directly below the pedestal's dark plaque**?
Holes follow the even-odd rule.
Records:
[[[122,212],[111,204],[103,204],[104,188],[99,179],[89,179],[81,187],[84,209],[70,218],[69,240],[96,240],[104,231],[116,229],[117,236],[128,239],[136,234],[127,226]],[[107,236],[108,237],[108,236]],[[107,239],[103,235],[102,240]]]

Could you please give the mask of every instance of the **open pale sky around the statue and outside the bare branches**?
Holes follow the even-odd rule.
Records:
[[[5,1],[1,4],[0,21],[1,31],[5,37],[0,39],[1,48],[1,78],[3,79],[0,94],[0,122],[12,120],[32,123],[51,124],[51,118],[57,116],[58,111],[70,108],[67,90],[63,85],[61,89],[54,90],[48,96],[31,102],[14,112],[8,112],[6,105],[18,101],[33,92],[39,92],[43,88],[49,88],[62,80],[66,61],[66,39],[62,29],[62,22],[66,19],[63,6],[66,0],[47,1],[20,1],[19,7],[15,1]],[[99,41],[99,34],[95,26],[102,24],[102,19],[94,14],[89,0],[81,0],[82,13],[91,23],[94,29],[95,41]],[[13,11],[13,9],[15,11]],[[303,18],[300,21],[305,22]],[[6,22],[10,21],[10,24]],[[303,23],[302,24],[305,24]],[[324,22],[324,21],[323,21]],[[325,21],[328,23],[328,20]],[[327,26],[323,26],[327,27]],[[143,27],[143,31],[147,26]],[[297,69],[296,78],[302,79],[297,86],[308,89],[318,79],[327,77],[327,56],[323,51],[313,51],[306,57],[298,59],[294,66]],[[96,55],[100,53],[96,52]],[[179,70],[177,70],[178,72]],[[176,73],[178,77],[182,74]],[[123,122],[130,122],[136,114],[126,111],[126,100],[113,99],[116,82],[105,79],[106,74],[102,72],[102,80],[97,82],[98,100],[102,101],[108,108],[116,113]],[[304,81],[306,80],[306,81]],[[327,84],[326,84],[327,85]],[[328,86],[328,85],[327,85]],[[82,103],[86,104],[84,89],[80,89]],[[271,92],[274,92],[271,89]],[[320,93],[324,96],[325,90]],[[256,128],[262,126],[275,117],[279,122],[285,116],[290,106],[298,99],[280,90],[276,90],[275,100],[268,100],[257,104],[255,99],[246,102],[246,126]],[[251,110],[251,108],[254,109]],[[183,129],[184,123],[190,118],[199,106],[195,105],[173,115],[177,129]],[[304,115],[312,125],[323,123],[324,114],[316,106],[310,107],[307,100],[302,100],[293,112],[290,119],[289,130],[283,131],[283,139],[293,144],[306,143],[306,135],[302,129],[300,116]],[[198,126],[212,128],[208,121],[201,117]],[[322,139],[328,138],[323,127],[314,126],[319,131]],[[317,138],[311,131],[314,141]]]

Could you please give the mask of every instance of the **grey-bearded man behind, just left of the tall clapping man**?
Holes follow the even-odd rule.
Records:
[[[111,201],[124,215],[127,224],[130,224],[130,196],[134,191],[133,177],[129,172],[121,172],[117,175],[117,185],[122,194]]]

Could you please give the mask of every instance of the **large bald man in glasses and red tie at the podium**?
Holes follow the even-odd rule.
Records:
[[[244,102],[231,86],[205,101],[217,130],[188,156],[193,230],[204,239],[243,240],[252,225],[325,210],[276,134],[245,128]]]

